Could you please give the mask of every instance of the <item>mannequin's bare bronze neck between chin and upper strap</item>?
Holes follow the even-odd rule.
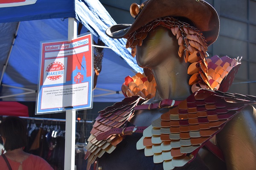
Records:
[[[183,60],[177,56],[170,57],[169,61],[151,69],[157,83],[154,100],[183,100],[191,94],[191,86],[188,85],[190,75],[187,74],[190,63],[181,59]]]

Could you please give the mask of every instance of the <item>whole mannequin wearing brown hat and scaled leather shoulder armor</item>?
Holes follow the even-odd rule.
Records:
[[[147,0],[137,11],[131,12],[135,16],[131,26],[112,26],[106,34],[127,39],[126,47],[132,48],[138,65],[149,69],[154,76],[155,94],[149,99],[147,94],[139,93],[134,84],[131,89],[126,87],[137,79],[125,82],[122,90],[127,98],[101,111],[93,125],[85,156],[89,162],[87,169],[98,157],[102,170],[240,170],[244,167],[253,170],[256,167],[256,111],[249,104],[254,103],[255,98],[249,97],[246,102],[247,96],[244,96],[240,107],[239,95],[215,91],[226,90],[223,83],[233,81],[234,75],[230,75],[237,71],[240,62],[228,59],[236,64],[231,65],[227,79],[223,77],[219,84],[211,80],[212,74],[207,71],[207,46],[218,37],[216,11],[203,0]],[[144,83],[144,77],[141,79]],[[122,123],[124,119],[127,121]],[[137,132],[143,132],[143,136]],[[202,141],[195,142],[198,139]],[[209,141],[221,148],[225,163],[203,147]]]

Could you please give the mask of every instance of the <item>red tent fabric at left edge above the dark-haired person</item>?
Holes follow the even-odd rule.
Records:
[[[0,108],[1,116],[29,117],[28,107],[19,102],[0,102]]]

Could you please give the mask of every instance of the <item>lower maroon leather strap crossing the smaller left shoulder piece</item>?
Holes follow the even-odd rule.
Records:
[[[96,140],[100,141],[103,139],[108,138],[108,136],[117,134],[120,136],[125,136],[125,135],[132,135],[132,133],[143,133],[143,130],[147,128],[146,126],[129,126],[125,128],[113,128],[111,130],[108,130],[106,132],[100,133],[98,136],[96,136]]]

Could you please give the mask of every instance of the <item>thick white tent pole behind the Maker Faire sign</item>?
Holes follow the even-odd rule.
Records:
[[[68,18],[68,40],[77,37],[75,18]],[[75,170],[76,110],[66,111],[64,170]]]

